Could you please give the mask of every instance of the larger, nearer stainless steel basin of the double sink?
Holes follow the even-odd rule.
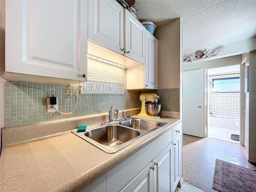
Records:
[[[119,125],[108,125],[92,129],[84,135],[102,145],[116,146],[139,136],[140,132]]]

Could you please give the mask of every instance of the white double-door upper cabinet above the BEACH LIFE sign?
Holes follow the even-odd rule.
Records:
[[[145,30],[145,27],[116,0],[89,1],[88,39],[90,41],[144,64]],[[91,49],[90,45],[89,49]],[[99,56],[97,51],[92,54]],[[107,56],[104,59],[116,62],[115,56],[112,58]]]

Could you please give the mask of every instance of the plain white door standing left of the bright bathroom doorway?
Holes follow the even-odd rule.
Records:
[[[183,133],[204,136],[204,72],[183,72]]]

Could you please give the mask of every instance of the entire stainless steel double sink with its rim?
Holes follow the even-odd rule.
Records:
[[[166,124],[132,118],[89,126],[86,132],[71,132],[106,153],[115,153]]]

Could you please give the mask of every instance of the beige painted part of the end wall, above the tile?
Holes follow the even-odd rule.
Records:
[[[182,63],[182,20],[156,28],[159,41],[159,89],[180,88]]]

